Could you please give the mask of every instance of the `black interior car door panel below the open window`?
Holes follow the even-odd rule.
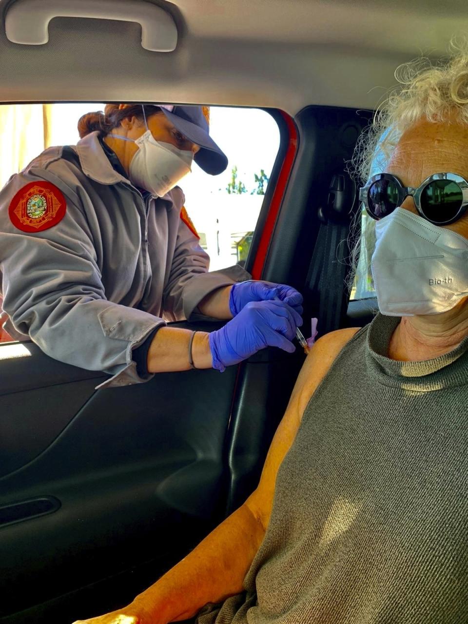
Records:
[[[208,532],[225,500],[236,379],[231,367],[94,390],[102,378],[86,371],[90,379],[70,381],[83,373],[67,367],[68,381],[62,373],[62,383],[47,386],[57,363],[27,348],[28,357],[0,358],[0,376],[12,365],[17,380],[10,392],[1,388],[0,507],[43,497],[59,505],[0,524],[0,616],[8,622],[149,560],[160,574]],[[42,387],[17,391],[34,371]]]

